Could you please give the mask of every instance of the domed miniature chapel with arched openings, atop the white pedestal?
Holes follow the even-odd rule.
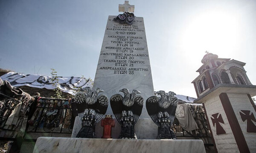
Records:
[[[208,52],[201,62],[203,65],[197,70],[200,75],[192,82],[198,97],[218,84],[252,85],[244,70],[244,62],[218,58]]]

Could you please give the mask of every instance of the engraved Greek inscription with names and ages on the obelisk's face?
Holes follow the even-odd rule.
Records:
[[[108,19],[99,70],[129,75],[150,71],[143,18],[135,18],[132,25],[120,24],[113,18]]]

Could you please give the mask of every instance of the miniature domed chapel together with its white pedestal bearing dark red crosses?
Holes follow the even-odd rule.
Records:
[[[198,96],[195,103],[204,106],[212,140],[218,153],[256,152],[256,106],[252,85],[244,62],[218,58],[208,53],[192,81]]]

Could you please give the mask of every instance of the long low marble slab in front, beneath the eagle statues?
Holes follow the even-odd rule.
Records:
[[[39,137],[33,153],[205,153],[202,140]]]

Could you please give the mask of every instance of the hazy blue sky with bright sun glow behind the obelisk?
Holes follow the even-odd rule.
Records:
[[[0,68],[94,79],[108,15],[124,0],[0,0]],[[246,62],[256,84],[255,0],[130,0],[144,17],[155,91],[196,97],[205,51]]]

